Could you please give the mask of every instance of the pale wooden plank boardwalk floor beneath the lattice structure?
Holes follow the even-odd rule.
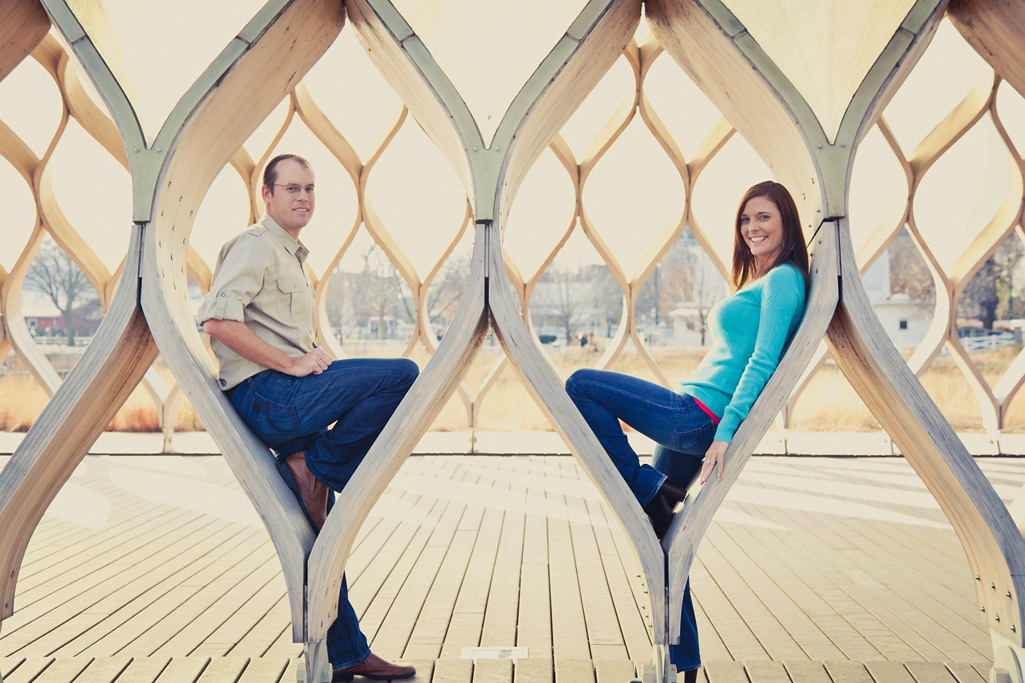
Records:
[[[1004,500],[1025,481],[1025,460],[979,464]],[[411,457],[347,576],[372,649],[414,661],[416,681],[624,682],[650,657],[636,561],[570,457]],[[902,458],[752,458],[691,578],[709,683],[988,677],[963,551]],[[301,652],[274,548],[220,457],[88,456],[14,606],[4,683],[290,681]],[[514,646],[515,669],[460,658]]]

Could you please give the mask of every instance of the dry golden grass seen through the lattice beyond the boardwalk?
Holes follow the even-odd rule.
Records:
[[[600,357],[591,350],[577,348],[550,351],[552,362],[564,377],[569,376],[577,368],[592,367]],[[995,352],[976,354],[973,356],[973,361],[992,387],[1017,357],[1019,351],[1015,348],[1004,348]],[[401,348],[389,347],[377,352],[380,356],[397,355],[401,353]],[[690,375],[701,361],[703,352],[670,349],[656,350],[652,355],[665,375],[670,380],[675,380]],[[421,348],[416,350],[412,358],[421,368],[428,360],[426,352]],[[478,395],[481,385],[500,358],[501,349],[497,344],[489,340],[484,345],[463,381],[470,396]],[[56,362],[63,366],[69,365],[68,357],[60,357]],[[16,369],[16,362],[12,363],[9,359],[8,365],[12,364]],[[654,373],[636,351],[623,353],[609,369],[655,380]],[[169,386],[172,386],[173,377],[159,358],[157,371]],[[956,431],[982,431],[982,413],[975,393],[949,356],[936,358],[920,379],[926,391]],[[0,377],[0,430],[27,431],[46,405],[46,393],[31,375],[8,374]],[[479,410],[477,428],[482,431],[552,431],[551,425],[541,414],[508,366],[503,368],[494,385],[488,390]],[[158,425],[157,409],[153,400],[146,390],[138,387],[111,420],[108,429],[117,432],[155,432],[158,431]],[[452,397],[430,429],[436,432],[468,429],[466,409],[458,395]],[[802,394],[794,408],[791,429],[801,432],[870,432],[880,428],[843,374],[835,366],[829,364],[812,377]],[[203,430],[202,423],[186,399],[181,400],[178,407],[175,430],[178,432]],[[1025,398],[1019,397],[1012,402],[1003,431],[1025,432]]]

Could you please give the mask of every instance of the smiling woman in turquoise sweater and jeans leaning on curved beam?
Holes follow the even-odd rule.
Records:
[[[712,307],[712,346],[676,392],[605,370],[577,370],[566,383],[659,538],[699,470],[702,484],[712,470],[723,476],[726,449],[805,312],[808,249],[786,188],[771,180],[750,188],[737,208],[734,239],[737,291]],[[651,465],[640,464],[620,419],[658,444]],[[689,584],[680,644],[669,654],[692,683],[701,658]]]

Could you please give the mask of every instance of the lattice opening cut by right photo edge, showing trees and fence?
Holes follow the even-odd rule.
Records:
[[[957,298],[960,345],[991,388],[1021,353],[1023,318],[1025,244],[1014,232],[982,263]]]

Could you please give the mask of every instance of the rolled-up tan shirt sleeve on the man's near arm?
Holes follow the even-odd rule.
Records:
[[[199,308],[199,322],[207,320],[234,320],[245,322],[245,308],[263,287],[263,269],[266,256],[260,240],[245,233],[233,244],[220,250],[219,264],[210,284],[210,291]]]

